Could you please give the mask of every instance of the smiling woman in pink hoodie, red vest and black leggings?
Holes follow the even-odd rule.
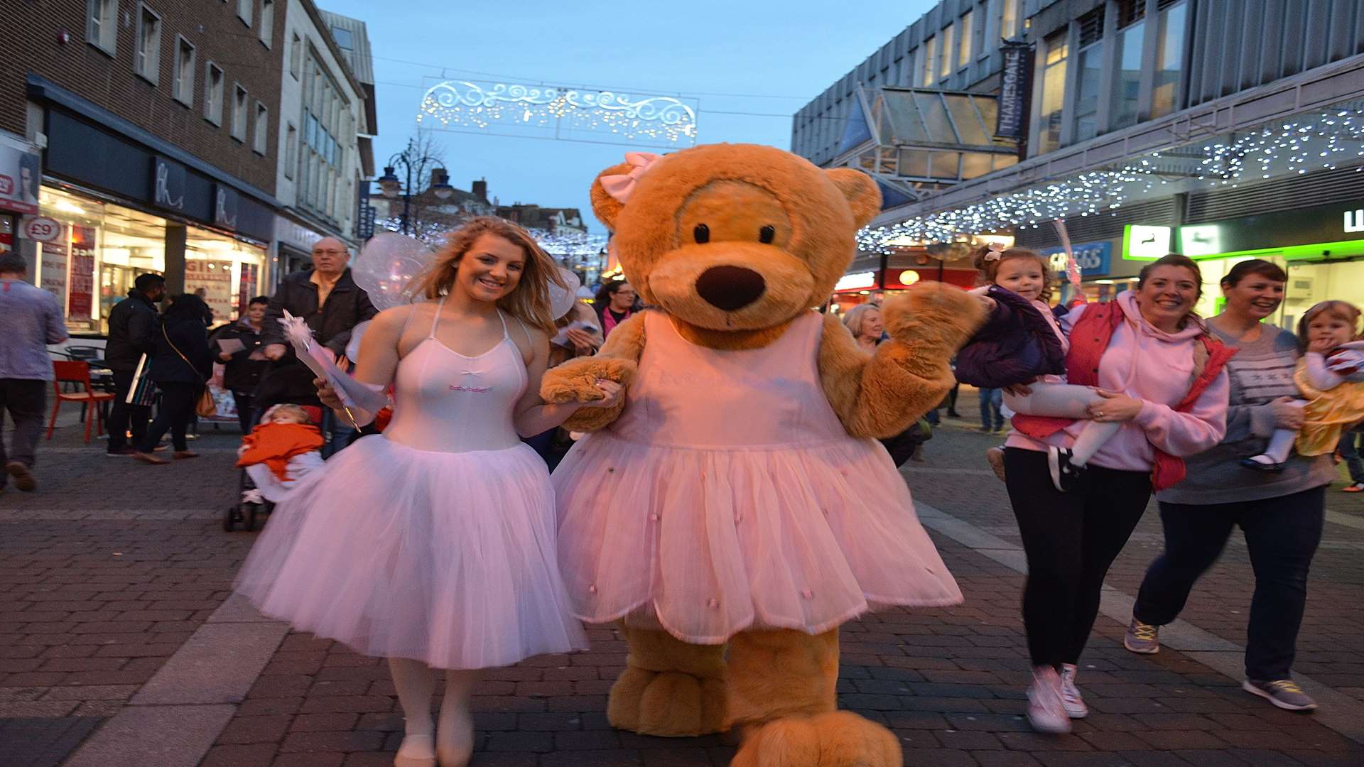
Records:
[[[1088,420],[1016,415],[1004,449],[1005,486],[1027,555],[1023,625],[1033,661],[1027,718],[1045,733],[1088,714],[1076,685],[1080,654],[1099,610],[1103,577],[1155,489],[1183,474],[1183,457],[1226,430],[1226,358],[1194,314],[1198,263],[1166,255],[1142,269],[1138,289],[1071,310],[1067,381],[1103,396],[1090,419],[1121,424],[1088,467],[1058,490],[1048,468]]]

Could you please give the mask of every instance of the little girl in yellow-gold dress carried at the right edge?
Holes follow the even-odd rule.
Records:
[[[1303,314],[1297,323],[1303,359],[1293,381],[1307,399],[1303,429],[1275,429],[1266,450],[1241,460],[1258,471],[1284,471],[1289,450],[1300,456],[1324,456],[1335,450],[1341,433],[1364,420],[1364,341],[1356,340],[1360,310],[1326,300]]]

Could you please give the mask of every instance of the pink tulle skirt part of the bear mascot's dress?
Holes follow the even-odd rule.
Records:
[[[828,631],[962,591],[878,442],[690,449],[597,433],[554,474],[574,614],[656,621],[696,644]]]

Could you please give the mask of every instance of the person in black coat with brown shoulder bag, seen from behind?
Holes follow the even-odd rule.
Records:
[[[194,293],[176,296],[153,336],[155,351],[151,353],[150,375],[161,390],[161,404],[155,420],[147,427],[147,435],[136,445],[138,452],[132,456],[142,463],[169,463],[154,453],[166,431],[170,431],[176,460],[199,456],[190,450],[186,430],[199,394],[213,375],[213,352],[209,351],[209,333],[203,326],[206,308],[203,299]]]

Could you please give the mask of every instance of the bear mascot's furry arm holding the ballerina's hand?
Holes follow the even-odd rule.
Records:
[[[600,400],[597,378],[615,381],[626,389],[644,355],[644,314],[634,314],[611,330],[602,351],[592,356],[574,358],[544,371],[540,397],[547,403]],[[581,408],[563,427],[569,431],[599,431],[611,424],[625,409],[625,399],[611,408]]]

